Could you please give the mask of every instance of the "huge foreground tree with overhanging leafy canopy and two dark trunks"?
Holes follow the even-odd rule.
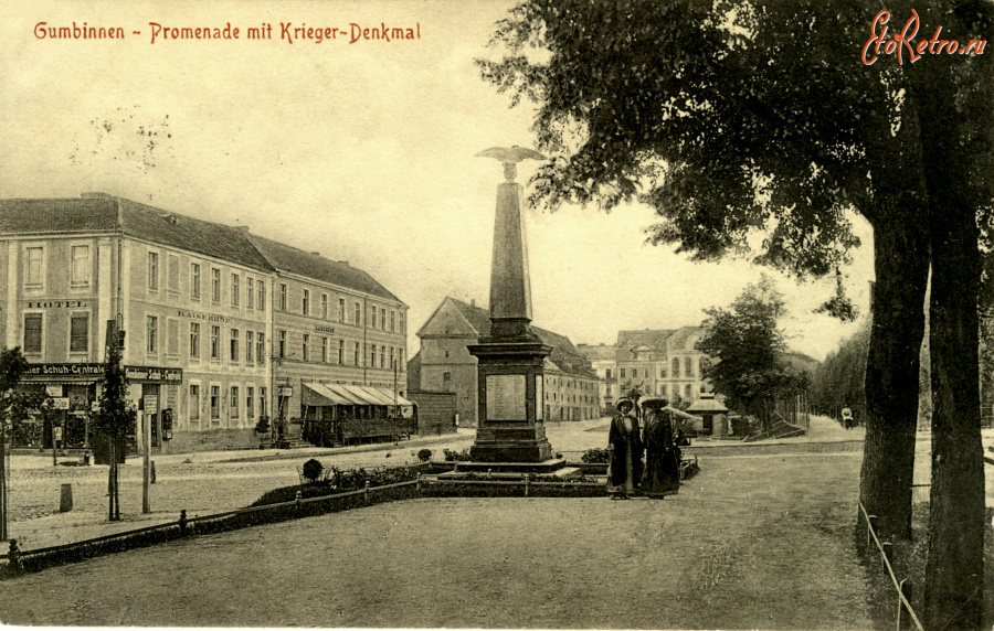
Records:
[[[888,39],[918,15],[965,44],[992,31],[983,0],[888,7]],[[860,500],[887,538],[911,535],[922,304],[932,266],[933,494],[926,618],[980,625],[983,461],[979,427],[977,218],[992,200],[990,54],[886,44],[861,55],[878,2],[526,0],[498,23],[484,78],[538,104],[554,159],[550,207],[651,204],[656,244],[696,259],[743,253],[822,276],[874,229]],[[884,25],[877,23],[879,35]],[[909,30],[908,34],[911,32]],[[934,52],[939,38],[930,44]],[[892,49],[892,50],[893,50]],[[917,49],[916,49],[917,50]],[[948,50],[948,46],[947,46]],[[876,62],[865,63],[877,56]],[[829,302],[843,312],[845,301]],[[942,577],[940,579],[940,577]]]

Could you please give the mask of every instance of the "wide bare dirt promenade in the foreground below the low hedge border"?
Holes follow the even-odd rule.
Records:
[[[702,461],[665,501],[425,499],[6,581],[12,624],[868,629],[856,453]]]

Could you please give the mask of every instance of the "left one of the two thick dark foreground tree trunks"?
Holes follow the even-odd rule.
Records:
[[[889,122],[885,121],[889,126]],[[888,127],[889,133],[889,127]],[[859,500],[889,541],[911,537],[918,377],[929,274],[927,202],[918,119],[906,108],[906,150],[870,156],[874,178],[873,324],[866,361],[866,442]],[[886,146],[880,143],[880,146]],[[861,520],[860,520],[861,521]],[[866,544],[857,528],[857,546]]]

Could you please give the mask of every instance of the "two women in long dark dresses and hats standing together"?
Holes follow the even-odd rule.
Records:
[[[672,415],[664,409],[667,404],[663,398],[646,399],[642,404],[645,429],[641,430],[634,415],[635,402],[618,399],[607,434],[612,499],[626,499],[637,489],[649,498],[662,499],[680,488],[680,457]]]

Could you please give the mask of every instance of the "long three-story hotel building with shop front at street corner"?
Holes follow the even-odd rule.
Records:
[[[329,313],[332,296],[361,299],[363,318],[376,301],[377,324],[360,319],[332,338],[324,296]],[[300,416],[305,382],[385,385],[390,371],[367,363],[373,340],[377,366],[389,365],[385,349],[404,353],[406,307],[364,272],[99,193],[0,201],[0,339],[31,362],[27,387],[53,397],[70,445],[87,441],[108,320],[125,331],[129,396],[151,415],[158,451],[253,445],[261,416]],[[398,331],[379,325],[384,312]],[[347,366],[332,339],[368,344],[361,362]],[[40,438],[51,443],[47,430]]]

